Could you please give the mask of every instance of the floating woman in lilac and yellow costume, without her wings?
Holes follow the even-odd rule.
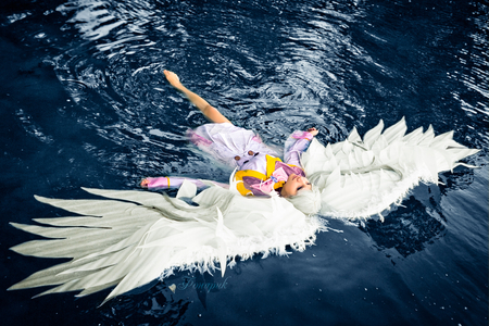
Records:
[[[308,180],[301,166],[301,154],[317,135],[316,128],[294,131],[286,141],[283,162],[253,131],[236,127],[217,109],[188,90],[175,73],[164,71],[164,74],[173,87],[213,122],[190,130],[189,139],[218,161],[237,168],[235,180],[242,196],[273,196],[276,192],[305,214],[319,211],[321,193]],[[205,187],[200,180],[179,177],[146,178],[141,187],[150,190],[178,188],[184,180],[198,188]]]

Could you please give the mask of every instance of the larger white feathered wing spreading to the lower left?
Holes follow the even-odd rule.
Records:
[[[187,187],[188,186],[188,187]],[[36,218],[39,225],[12,223],[46,237],[12,248],[25,255],[70,258],[37,272],[10,290],[54,286],[38,296],[79,291],[78,297],[114,287],[105,301],[143,286],[174,269],[213,273],[254,253],[286,254],[286,246],[303,250],[324,221],[309,217],[281,198],[244,198],[210,187],[195,196],[183,185],[177,198],[147,191],[85,189],[97,200],[37,200],[79,214],[76,217]],[[36,297],[38,297],[36,296]]]

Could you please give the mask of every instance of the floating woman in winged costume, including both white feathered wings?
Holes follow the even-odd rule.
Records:
[[[147,178],[149,189],[179,187],[176,198],[149,191],[85,189],[98,200],[37,200],[79,214],[36,218],[40,225],[13,226],[49,238],[12,248],[39,258],[70,258],[37,272],[10,289],[55,286],[41,294],[80,291],[87,296],[114,287],[106,300],[164,279],[175,269],[200,273],[236,264],[255,253],[302,251],[326,230],[323,216],[346,220],[380,215],[400,204],[419,181],[438,183],[477,150],[435,137],[431,126],[405,135],[402,118],[384,129],[380,123],[363,138],[353,129],[343,141],[326,147],[315,128],[296,131],[286,141],[284,162],[252,131],[234,126],[216,109],[166,78],[214,124],[189,133],[202,150],[236,166],[230,185],[187,178]],[[309,148],[308,148],[309,147]],[[308,178],[305,178],[305,176]],[[197,188],[205,188],[197,195]],[[180,198],[190,198],[189,204]],[[380,215],[380,218],[384,218]],[[40,296],[41,296],[40,294]]]

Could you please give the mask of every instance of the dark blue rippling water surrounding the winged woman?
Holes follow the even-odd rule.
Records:
[[[487,325],[488,11],[471,0],[3,0],[1,324]],[[274,146],[296,128],[338,141],[405,116],[410,129],[455,130],[481,149],[467,160],[481,168],[416,188],[385,223],[331,220],[342,233],[225,278],[180,273],[101,308],[106,291],[7,291],[55,263],[8,250],[35,238],[8,222],[64,214],[34,195],[134,189],[148,175],[226,181],[186,145],[204,118],[163,68]],[[221,288],[184,289],[191,281]]]

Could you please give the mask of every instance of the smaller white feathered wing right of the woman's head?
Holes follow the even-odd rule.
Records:
[[[326,147],[313,140],[302,155],[310,180],[322,191],[324,215],[356,220],[378,215],[402,201],[419,181],[438,183],[440,172],[477,153],[453,140],[453,131],[435,136],[431,126],[406,133],[405,120],[384,129],[384,122],[361,138],[356,128],[344,141]]]

